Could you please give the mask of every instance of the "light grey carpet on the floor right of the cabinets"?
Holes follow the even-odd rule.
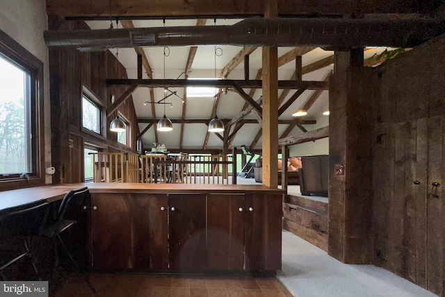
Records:
[[[277,278],[296,297],[437,297],[383,268],[343,264],[287,231]]]

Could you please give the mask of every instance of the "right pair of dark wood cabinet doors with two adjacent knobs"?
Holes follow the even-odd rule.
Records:
[[[282,195],[207,195],[207,268],[281,269]]]

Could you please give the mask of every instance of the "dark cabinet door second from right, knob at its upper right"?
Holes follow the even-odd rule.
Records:
[[[207,195],[207,268],[244,268],[244,195]]]

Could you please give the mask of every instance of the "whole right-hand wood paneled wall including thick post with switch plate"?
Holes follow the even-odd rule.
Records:
[[[330,84],[330,255],[349,263],[369,259],[439,296],[445,296],[444,47],[445,38],[430,40],[373,70],[334,74]],[[371,111],[360,110],[366,100]],[[334,174],[337,163],[345,164],[344,176]]]

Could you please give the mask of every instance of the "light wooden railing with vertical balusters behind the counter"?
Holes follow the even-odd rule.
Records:
[[[94,182],[229,184],[231,156],[92,153]]]

